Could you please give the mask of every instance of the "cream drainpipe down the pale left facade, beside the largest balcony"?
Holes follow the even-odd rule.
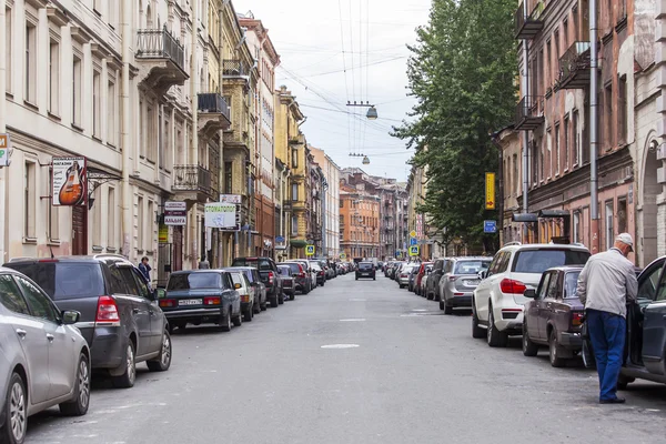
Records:
[[[122,254],[130,256],[132,233],[132,191],[130,189],[130,145],[132,128],[132,107],[130,102],[130,63],[132,56],[130,46],[134,40],[132,34],[132,10],[129,0],[122,2]]]

